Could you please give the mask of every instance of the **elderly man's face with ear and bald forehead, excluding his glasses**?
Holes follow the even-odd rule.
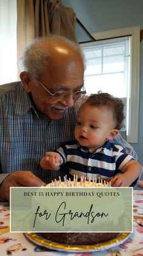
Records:
[[[39,80],[52,94],[58,91],[80,91],[84,83],[82,59],[77,52],[70,52],[69,49],[62,52],[61,49],[55,47],[49,57],[47,71],[41,74]],[[61,119],[65,110],[74,104],[72,95],[61,100],[53,99],[38,80],[30,80],[27,92],[31,92],[39,111],[50,119]]]

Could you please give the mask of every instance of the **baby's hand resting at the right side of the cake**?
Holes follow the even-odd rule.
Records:
[[[128,182],[127,176],[124,174],[116,175],[111,180],[111,187],[129,187],[130,182]]]

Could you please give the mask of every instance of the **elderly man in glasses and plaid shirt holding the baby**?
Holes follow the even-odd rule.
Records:
[[[9,199],[10,187],[41,186],[61,175],[42,170],[39,160],[45,151],[73,139],[76,112],[85,95],[82,52],[65,38],[33,41],[20,64],[21,81],[0,86],[2,199]],[[115,144],[130,148],[121,139]]]

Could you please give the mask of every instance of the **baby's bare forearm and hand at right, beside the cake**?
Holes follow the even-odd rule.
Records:
[[[116,175],[111,179],[111,186],[113,187],[129,187],[141,174],[141,165],[135,160],[127,162],[122,167],[122,175]]]

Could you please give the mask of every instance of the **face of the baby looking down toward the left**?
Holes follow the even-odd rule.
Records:
[[[105,107],[82,105],[78,111],[75,138],[82,147],[99,148],[112,139],[115,122],[113,115]]]

